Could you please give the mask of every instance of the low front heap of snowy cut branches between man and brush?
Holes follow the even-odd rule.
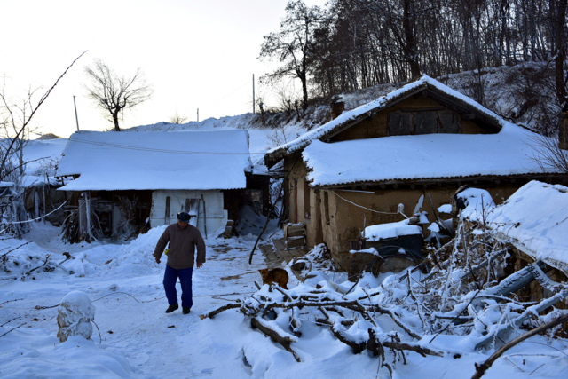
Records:
[[[372,351],[390,372],[392,367],[385,359],[385,349],[393,352],[395,361],[399,358],[406,360],[402,351],[414,351],[422,356],[441,357],[445,354],[444,351],[417,343],[422,336],[412,326],[406,325],[396,312],[375,301],[380,291],[367,292],[363,289],[359,295],[345,298],[333,288],[312,288],[306,284],[301,284],[293,291],[268,285],[262,288],[258,284],[256,286],[259,290],[252,296],[245,297],[244,301],[237,300],[202,314],[201,320],[236,308],[250,318],[253,328],[280,343],[298,362],[301,359],[294,350],[293,343],[302,336],[302,321],[305,317],[300,318],[300,310],[303,314],[312,314],[316,324],[329,328],[339,341],[351,346],[353,352]],[[384,331],[376,320],[380,315],[390,317],[404,331],[402,335]],[[286,325],[289,331],[285,330]]]

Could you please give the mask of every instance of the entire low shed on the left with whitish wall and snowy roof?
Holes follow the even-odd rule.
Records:
[[[251,172],[247,130],[80,131],[57,176],[67,178],[59,190],[75,193],[78,228],[113,236],[174,223],[182,210],[215,233]]]

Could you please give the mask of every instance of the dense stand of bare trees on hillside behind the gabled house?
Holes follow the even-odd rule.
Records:
[[[554,134],[566,103],[566,3],[330,0],[319,8],[291,1],[280,29],[264,36],[259,58],[280,67],[263,83],[299,80],[302,94],[280,99],[280,110],[299,115],[340,94],[367,89],[363,97],[373,98],[392,88],[376,86],[426,74]],[[496,91],[502,86],[506,92]]]

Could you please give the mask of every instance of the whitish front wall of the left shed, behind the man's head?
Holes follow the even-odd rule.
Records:
[[[205,201],[205,214],[203,201]],[[187,190],[157,190],[152,193],[152,211],[150,212],[150,225],[152,227],[166,224],[166,197],[170,196],[170,224],[177,222],[177,213],[185,210],[186,199],[199,199],[199,215],[197,228],[205,237],[205,223],[207,221],[208,235],[214,235],[219,228],[225,228],[227,211],[223,209],[223,191],[187,191]],[[204,216],[207,219],[204,219]]]

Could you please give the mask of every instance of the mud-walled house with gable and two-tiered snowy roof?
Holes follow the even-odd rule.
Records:
[[[561,179],[530,158],[533,136],[422,75],[272,149],[265,162],[284,160],[289,171],[289,221],[306,225],[308,246],[325,242],[341,262],[365,225],[401,221],[399,209],[412,216],[422,195],[433,222],[460,186],[499,203],[535,178]]]

